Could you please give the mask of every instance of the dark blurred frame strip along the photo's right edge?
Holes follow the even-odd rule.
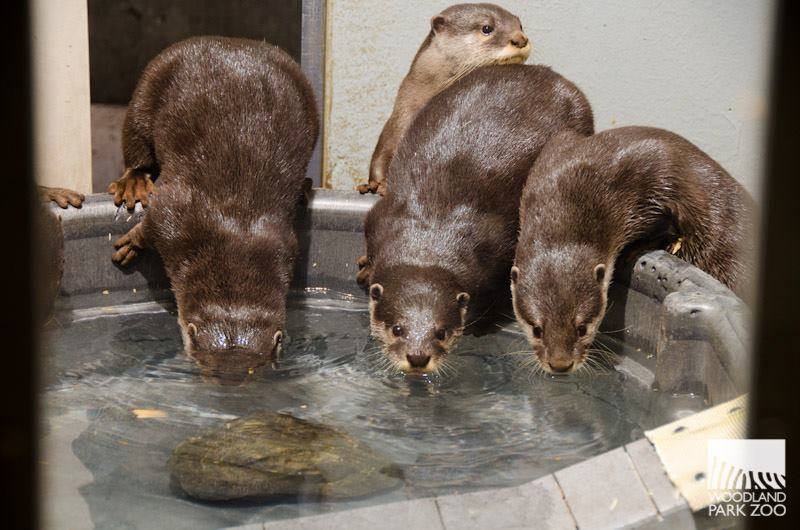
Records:
[[[786,439],[788,515],[751,528],[800,527],[800,2],[778,6],[749,436]]]

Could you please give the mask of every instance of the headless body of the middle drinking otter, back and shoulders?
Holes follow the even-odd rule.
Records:
[[[480,68],[432,98],[367,217],[370,283],[404,281],[385,278],[398,266],[444,268],[471,296],[468,320],[507,299],[521,190],[562,129],[592,134],[592,112],[572,83],[542,66]]]

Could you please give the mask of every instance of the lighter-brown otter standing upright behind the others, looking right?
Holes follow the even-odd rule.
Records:
[[[397,145],[434,95],[478,67],[523,63],[530,52],[519,18],[502,7],[457,4],[433,17],[431,31],[400,84],[392,115],[372,153],[369,182],[358,186],[358,191],[384,194]]]

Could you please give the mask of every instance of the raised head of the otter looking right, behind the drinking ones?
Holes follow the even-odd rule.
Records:
[[[457,4],[431,19],[432,45],[459,75],[489,64],[524,63],[531,44],[516,15],[493,4]]]

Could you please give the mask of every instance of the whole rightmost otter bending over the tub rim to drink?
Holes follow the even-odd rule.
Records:
[[[555,136],[531,169],[511,270],[514,312],[539,365],[585,361],[629,245],[669,249],[737,289],[754,204],[719,164],[661,129]]]

